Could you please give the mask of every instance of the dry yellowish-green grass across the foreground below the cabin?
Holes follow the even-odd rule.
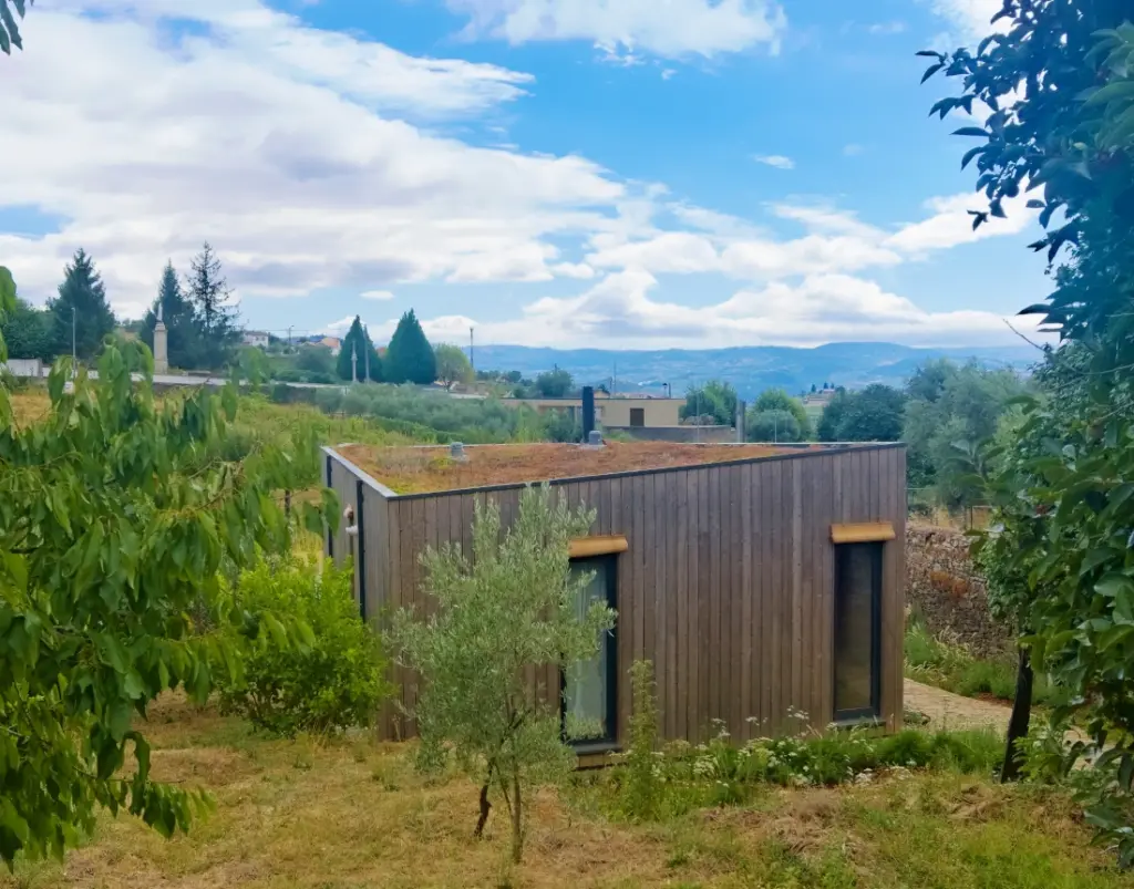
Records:
[[[507,867],[507,827],[471,838],[476,788],[425,781],[405,747],[266,740],[245,723],[163,700],[147,727],[154,771],[208,787],[217,812],[163,840],[104,815],[58,863],[17,866],[3,889],[169,886],[822,887],[823,889],[1111,889],[1129,887],[1058,793],[953,771],[839,788],[767,787],[744,805],[659,823],[609,820],[576,789],[539,790],[528,850]],[[612,772],[576,777],[599,793]]]

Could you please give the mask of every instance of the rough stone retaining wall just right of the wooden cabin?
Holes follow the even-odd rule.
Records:
[[[1010,634],[989,615],[984,578],[959,531],[906,526],[906,603],[934,635],[956,638],[982,657],[1002,654]]]

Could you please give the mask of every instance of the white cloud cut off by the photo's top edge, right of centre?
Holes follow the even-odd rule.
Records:
[[[585,40],[607,52],[712,57],[765,45],[787,27],[771,0],[448,0],[469,17],[467,33],[509,43]]]

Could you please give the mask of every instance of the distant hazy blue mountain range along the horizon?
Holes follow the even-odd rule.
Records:
[[[1029,346],[934,349],[894,342],[830,342],[810,349],[741,346],[659,352],[477,346],[474,357],[479,370],[519,371],[530,378],[562,367],[584,386],[609,386],[616,379],[619,392],[658,395],[669,383],[674,395],[683,395],[693,383],[720,379],[731,383],[742,398],[753,398],[769,388],[798,393],[824,382],[848,389],[870,383],[902,386],[919,365],[932,358],[976,361],[1026,372],[1039,353]]]

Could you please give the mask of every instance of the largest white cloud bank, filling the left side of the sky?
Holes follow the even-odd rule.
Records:
[[[196,36],[172,40],[160,15],[196,22]],[[41,238],[0,234],[0,255],[36,302],[78,246],[129,305],[206,238],[239,295],[302,296],[549,280],[552,238],[633,228],[618,221],[627,188],[582,158],[471,147],[378,108],[476,108],[479,66],[417,69],[396,53],[391,71],[375,61],[387,48],[259,0],[59,0],[25,31],[28,50],[3,69],[5,155],[22,161],[0,164],[0,201],[66,221]],[[311,41],[350,61],[291,51]]]

